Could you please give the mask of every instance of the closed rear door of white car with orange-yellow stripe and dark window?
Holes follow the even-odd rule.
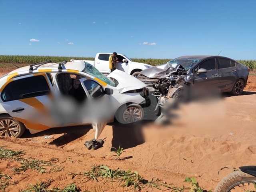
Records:
[[[6,112],[22,122],[31,133],[54,127],[48,111],[54,91],[46,73],[12,78],[0,92],[0,103]]]

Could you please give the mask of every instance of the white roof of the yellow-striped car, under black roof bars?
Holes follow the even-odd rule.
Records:
[[[46,63],[46,64],[34,64],[33,69],[34,70],[57,70],[60,63]],[[66,62],[66,64],[62,65],[62,69],[69,69],[69,70],[76,70],[76,71],[82,71],[86,67],[86,64],[81,61],[74,61],[74,62]],[[18,68],[16,70],[13,70],[9,74],[18,73],[18,72],[24,72],[29,71],[30,66],[25,66],[22,68]]]

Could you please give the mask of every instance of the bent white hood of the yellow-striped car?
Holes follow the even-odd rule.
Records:
[[[112,77],[118,81],[118,85],[116,88],[120,93],[124,93],[130,90],[136,90],[146,87],[146,84],[131,76],[125,72],[122,72],[118,69],[114,70],[112,73],[108,75],[108,77]]]

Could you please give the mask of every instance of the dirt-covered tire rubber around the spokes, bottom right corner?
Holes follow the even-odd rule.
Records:
[[[236,186],[246,183],[256,183],[256,177],[242,171],[235,171],[220,180],[214,192],[230,192]],[[254,189],[253,184],[251,184],[251,188]]]

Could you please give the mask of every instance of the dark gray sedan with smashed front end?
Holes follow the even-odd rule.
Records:
[[[221,92],[242,94],[250,69],[222,56],[182,56],[166,64],[141,71],[138,79],[155,96],[176,98],[184,87],[217,88]]]

